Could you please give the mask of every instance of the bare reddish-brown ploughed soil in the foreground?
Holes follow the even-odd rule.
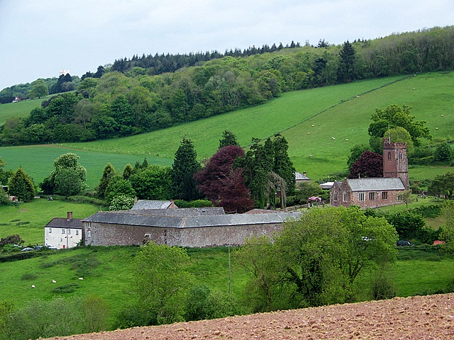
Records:
[[[396,297],[52,339],[454,339],[454,294]]]

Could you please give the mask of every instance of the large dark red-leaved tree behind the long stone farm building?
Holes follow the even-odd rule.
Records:
[[[222,147],[204,169],[194,174],[199,191],[226,212],[245,212],[254,205],[249,189],[243,183],[243,169],[233,170],[236,157],[244,157],[243,149],[235,145]]]

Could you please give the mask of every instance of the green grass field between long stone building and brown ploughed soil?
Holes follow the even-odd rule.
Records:
[[[86,247],[0,263],[0,300],[14,300],[16,305],[22,306],[35,298],[50,300],[57,295],[98,295],[108,303],[113,321],[118,312],[135,300],[133,259],[137,251],[139,248],[133,246]],[[228,292],[227,248],[188,249],[188,254],[192,262],[189,271],[199,283],[208,285],[211,290]],[[453,266],[454,259],[397,261],[391,271],[397,295],[435,293],[445,289],[453,275]],[[34,278],[24,280],[24,274]],[[234,296],[240,297],[248,275],[232,256],[231,293]],[[52,293],[54,288],[70,284],[76,285],[74,292]],[[362,280],[360,291],[364,299],[367,299],[365,292],[369,291],[369,285],[369,280]]]

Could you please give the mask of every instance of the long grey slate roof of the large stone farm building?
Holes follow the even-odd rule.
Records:
[[[301,212],[279,212],[277,214],[236,214],[211,216],[153,216],[122,212],[96,212],[83,222],[99,222],[116,225],[137,225],[144,227],[192,228],[221,227],[227,225],[260,225],[282,223],[287,219],[299,218]]]

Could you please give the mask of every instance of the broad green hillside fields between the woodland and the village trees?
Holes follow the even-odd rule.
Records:
[[[2,147],[0,157],[8,163],[6,169],[22,165],[35,183],[39,183],[52,170],[53,159],[70,150],[81,156],[80,163],[87,168],[88,183],[93,188],[108,162],[118,169],[143,157],[149,163],[172,164],[184,136],[194,142],[202,160],[216,152],[223,130],[232,130],[242,147],[250,145],[251,137],[266,138],[282,132],[289,142],[289,156],[297,171],[306,171],[309,178],[317,180],[346,170],[350,148],[368,142],[367,128],[375,108],[407,104],[413,107],[411,113],[417,120],[426,120],[434,138],[452,140],[453,78],[454,72],[439,72],[287,92],[262,106],[143,135],[68,143],[62,149]],[[35,155],[42,164],[35,162],[38,159]],[[435,174],[446,171],[454,168],[433,171],[432,167],[411,167],[409,176],[411,180],[433,179]]]

